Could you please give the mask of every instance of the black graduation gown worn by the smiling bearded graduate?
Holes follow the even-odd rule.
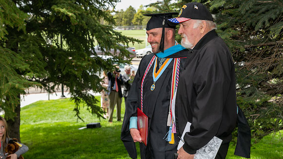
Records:
[[[187,54],[188,50],[182,50],[166,58],[182,58],[180,63],[181,74]],[[130,157],[133,159],[137,158],[137,152],[129,131],[129,120],[132,116],[137,116],[137,108],[141,108],[141,80],[152,57],[153,54],[150,54],[141,59],[139,69],[126,102],[127,105],[122,126],[121,140],[124,142]],[[144,79],[143,112],[148,116],[148,144],[147,147],[145,147],[144,144],[140,144],[141,159],[165,159],[165,156],[168,155],[166,151],[176,152],[178,140],[175,138],[176,144],[170,145],[163,139],[169,128],[167,127],[167,116],[169,111],[173,62],[174,60],[171,61],[160,78],[155,82],[156,86],[153,91],[150,90],[150,86],[153,83],[152,71],[154,63]],[[151,156],[151,152],[154,152],[154,156]],[[172,159],[173,154],[168,156]]]

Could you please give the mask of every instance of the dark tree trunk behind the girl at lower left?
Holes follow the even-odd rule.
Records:
[[[18,142],[21,142],[20,140],[20,104],[17,105],[15,108],[16,116],[14,119],[7,120],[8,124],[8,135],[10,138],[16,138],[18,139]]]

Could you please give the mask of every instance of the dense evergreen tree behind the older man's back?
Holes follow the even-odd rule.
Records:
[[[215,1],[212,1],[212,6]],[[236,64],[237,103],[255,142],[283,129],[283,3],[226,0],[211,7]]]

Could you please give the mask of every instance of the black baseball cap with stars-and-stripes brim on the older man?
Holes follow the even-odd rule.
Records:
[[[190,19],[213,21],[209,9],[202,3],[190,2],[182,6],[178,17],[168,19],[170,22],[178,24]]]

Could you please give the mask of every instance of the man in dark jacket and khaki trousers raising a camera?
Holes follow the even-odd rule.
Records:
[[[121,85],[123,84],[122,75],[120,74],[121,70],[119,66],[115,66],[115,70],[111,73],[107,73],[109,80],[108,83],[108,95],[110,99],[109,105],[109,119],[108,122],[112,123],[113,121],[113,112],[115,105],[117,104],[117,121],[121,121],[121,103],[122,103],[122,89]]]

